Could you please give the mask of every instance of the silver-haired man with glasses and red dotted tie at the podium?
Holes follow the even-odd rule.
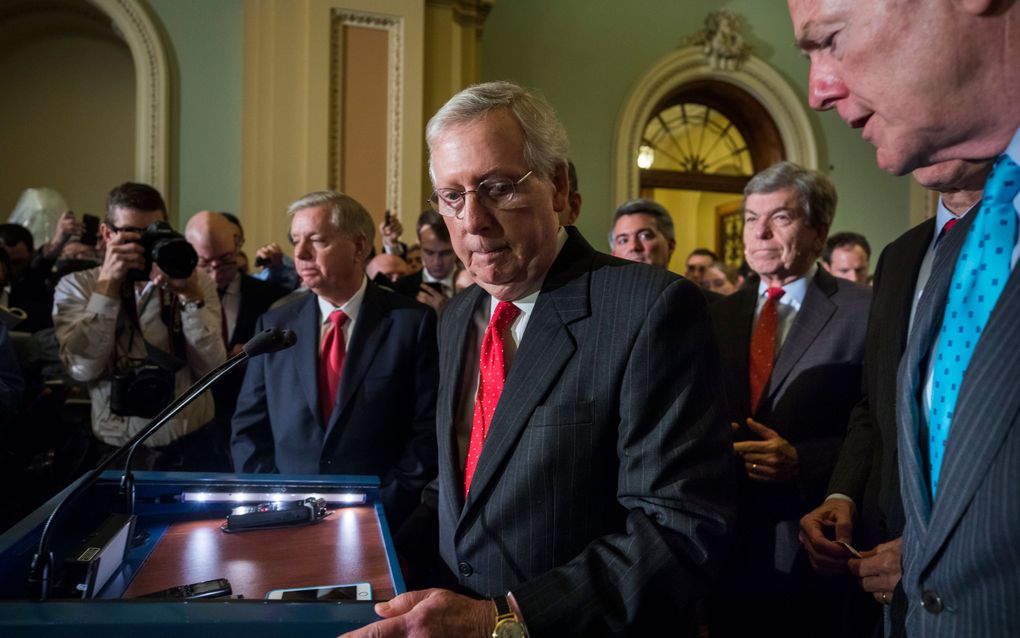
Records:
[[[478,284],[443,313],[437,408],[440,552],[471,595],[409,592],[352,635],[675,627],[730,514],[704,300],[560,226],[566,134],[544,100],[471,87],[426,139],[434,201]]]

